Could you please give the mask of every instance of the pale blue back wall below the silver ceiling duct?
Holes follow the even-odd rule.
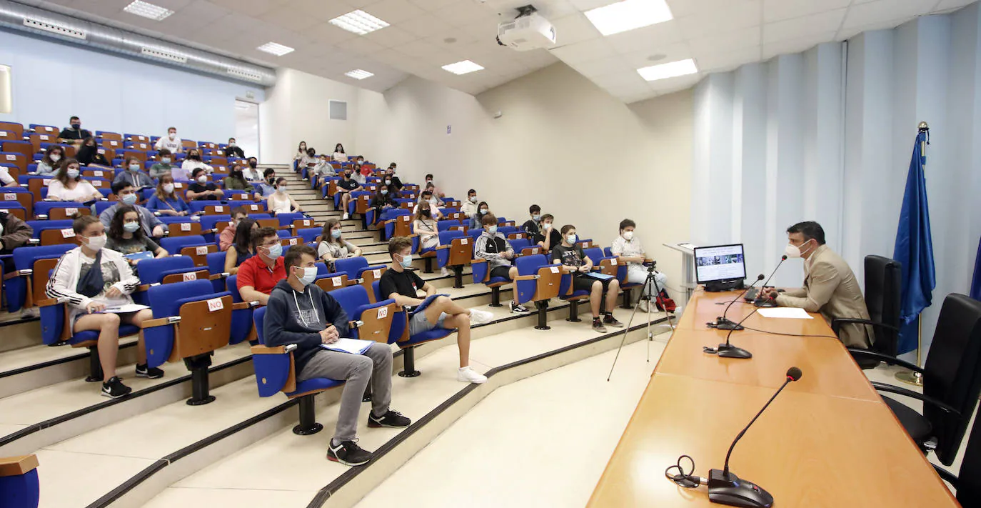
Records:
[[[235,97],[261,87],[132,60],[77,45],[0,30],[0,64],[13,75],[13,111],[0,120],[66,127],[72,115],[90,131],[185,140],[234,136]]]

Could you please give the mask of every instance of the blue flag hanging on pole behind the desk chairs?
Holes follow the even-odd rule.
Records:
[[[930,307],[937,273],[933,262],[933,240],[930,236],[930,212],[926,201],[926,177],[923,165],[926,157],[921,150],[927,133],[920,131],[913,143],[913,156],[906,175],[900,227],[896,232],[893,258],[902,263],[903,304],[899,352],[908,353],[917,347],[919,313]]]

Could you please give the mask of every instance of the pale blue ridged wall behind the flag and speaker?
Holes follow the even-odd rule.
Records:
[[[893,255],[916,127],[927,121],[937,261],[928,347],[944,297],[968,291],[981,235],[979,27],[974,4],[862,33],[847,58],[843,43],[828,43],[703,80],[692,179],[709,199],[693,199],[693,238],[743,241],[751,271],[768,272],[786,227],[817,220],[861,280],[865,255]],[[781,272],[778,284],[800,283],[800,261]]]

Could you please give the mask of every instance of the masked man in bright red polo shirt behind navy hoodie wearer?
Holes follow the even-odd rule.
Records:
[[[276,229],[265,227],[252,230],[252,250],[255,255],[238,266],[238,294],[243,302],[266,305],[273,288],[286,278],[283,246]]]

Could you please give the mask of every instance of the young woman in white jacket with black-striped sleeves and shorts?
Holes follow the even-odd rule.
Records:
[[[99,363],[102,366],[102,395],[119,398],[132,391],[116,375],[116,356],[119,353],[120,324],[139,326],[153,317],[149,309],[128,313],[104,312],[107,306],[131,304],[129,297],[139,287],[123,254],[104,249],[105,227],[92,215],[82,215],[72,224],[81,245],[58,261],[45,295],[48,298],[67,298],[69,316],[65,326],[73,333],[83,330],[99,332]],[[94,269],[93,269],[94,267]],[[160,368],[146,365],[146,346],[142,334],[136,342],[136,376],[156,379],[163,377]]]

